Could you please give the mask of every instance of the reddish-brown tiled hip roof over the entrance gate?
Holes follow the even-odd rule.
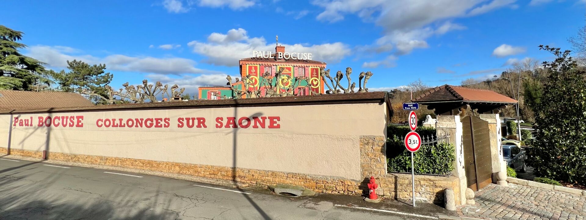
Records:
[[[430,89],[413,102],[474,102],[474,103],[517,103],[517,100],[488,89],[472,89],[462,86],[443,85]]]

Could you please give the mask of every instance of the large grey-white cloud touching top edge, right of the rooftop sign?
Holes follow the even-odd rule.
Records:
[[[383,27],[383,37],[377,45],[396,48],[394,54],[408,54],[415,48],[427,48],[427,38],[466,27],[451,23],[451,19],[479,15],[511,5],[516,0],[314,0],[323,8],[316,17],[325,22],[337,22],[347,14],[356,14],[365,22]],[[488,3],[487,3],[488,2]],[[440,10],[441,9],[441,10]]]

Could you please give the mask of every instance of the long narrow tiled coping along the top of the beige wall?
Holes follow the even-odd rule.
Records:
[[[40,113],[40,112],[71,112],[71,111],[120,111],[120,110],[149,110],[149,109],[197,109],[218,107],[248,107],[248,106],[285,106],[306,104],[339,104],[339,103],[383,103],[387,104],[389,97],[386,92],[360,92],[347,94],[328,94],[311,96],[262,97],[247,99],[220,99],[220,100],[189,100],[176,102],[108,104],[89,107],[62,107],[55,109],[29,109],[18,111],[3,111],[8,113]],[[390,109],[390,108],[389,108]]]

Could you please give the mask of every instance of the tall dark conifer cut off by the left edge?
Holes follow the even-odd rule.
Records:
[[[0,89],[32,90],[34,83],[50,85],[43,62],[19,53],[26,45],[22,32],[0,25]]]

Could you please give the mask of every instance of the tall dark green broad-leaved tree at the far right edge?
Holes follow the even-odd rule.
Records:
[[[543,62],[551,75],[536,106],[536,139],[528,163],[540,177],[586,183],[586,72],[570,51],[540,46],[556,55]]]

